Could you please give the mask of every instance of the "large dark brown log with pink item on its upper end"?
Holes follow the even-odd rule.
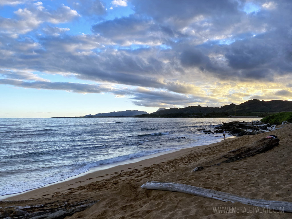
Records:
[[[231,150],[226,154],[215,157],[214,159],[205,162],[203,164],[199,164],[200,168],[194,168],[192,171],[200,171],[204,167],[210,167],[214,165],[220,165],[221,163],[230,163],[233,161],[241,160],[246,157],[250,157],[259,153],[263,153],[272,149],[273,147],[279,145],[280,139],[277,138],[262,138],[258,141],[253,142],[250,145],[245,145],[239,147],[237,149]]]

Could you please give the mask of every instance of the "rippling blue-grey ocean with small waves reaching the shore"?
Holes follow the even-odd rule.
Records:
[[[221,133],[204,130],[214,132],[222,122],[235,120],[238,118],[0,119],[0,196],[65,180],[98,166],[107,168],[137,157],[218,142]]]

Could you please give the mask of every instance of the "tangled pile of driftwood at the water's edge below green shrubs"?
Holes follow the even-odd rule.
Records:
[[[217,130],[215,133],[222,133],[223,130],[229,131],[232,135],[255,135],[258,133],[270,132],[276,130],[276,125],[270,125],[270,123],[263,124],[261,121],[252,121],[252,122],[223,122],[222,126],[216,127]]]

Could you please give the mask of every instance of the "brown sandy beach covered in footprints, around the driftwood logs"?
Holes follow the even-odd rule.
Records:
[[[270,134],[277,135],[280,142],[267,152],[192,172],[192,169],[209,159]],[[249,210],[250,206],[140,187],[147,181],[170,181],[251,199],[291,202],[291,135],[292,125],[287,124],[269,133],[229,138],[211,145],[183,149],[31,190],[7,198],[8,202],[2,201],[0,207],[45,203],[58,206],[62,201],[99,200],[86,210],[66,218],[291,218],[291,213],[263,210],[216,212],[219,208],[232,207]]]

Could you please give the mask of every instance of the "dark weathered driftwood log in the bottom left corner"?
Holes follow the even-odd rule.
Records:
[[[76,212],[84,211],[99,200],[56,200],[46,202],[40,199],[40,204],[35,204],[37,199],[20,201],[0,201],[0,218],[18,218],[18,219],[63,219]],[[46,202],[46,203],[44,203]],[[31,203],[34,203],[31,205]],[[44,203],[44,204],[41,204]]]

